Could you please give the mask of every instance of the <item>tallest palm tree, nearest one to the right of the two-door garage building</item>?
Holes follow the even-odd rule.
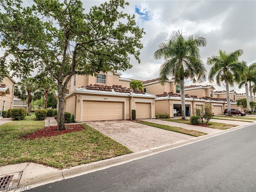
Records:
[[[155,59],[163,57],[165,60],[160,67],[159,82],[164,85],[168,76],[173,76],[175,83],[180,84],[182,119],[186,119],[184,80],[187,78],[193,82],[206,80],[206,69],[200,60],[198,48],[206,44],[206,38],[196,35],[185,39],[182,32],[178,31],[167,43],[162,42],[154,53]]]

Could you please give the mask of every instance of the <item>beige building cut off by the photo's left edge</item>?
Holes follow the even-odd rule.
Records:
[[[16,82],[10,76],[4,77],[0,84],[0,117],[2,117],[2,111],[13,107],[15,84]]]

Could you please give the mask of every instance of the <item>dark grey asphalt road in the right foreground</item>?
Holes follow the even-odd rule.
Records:
[[[30,192],[255,192],[256,125]]]

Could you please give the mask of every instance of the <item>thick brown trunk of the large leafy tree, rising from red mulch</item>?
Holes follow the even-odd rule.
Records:
[[[57,130],[65,130],[65,93],[66,89],[62,86],[62,82],[58,82],[58,127]]]

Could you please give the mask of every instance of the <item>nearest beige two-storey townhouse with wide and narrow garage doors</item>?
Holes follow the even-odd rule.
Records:
[[[130,89],[131,80],[121,75],[110,71],[97,76],[73,76],[65,97],[65,111],[74,114],[76,122],[129,119],[133,109],[137,119],[154,118],[156,96],[134,92]]]

